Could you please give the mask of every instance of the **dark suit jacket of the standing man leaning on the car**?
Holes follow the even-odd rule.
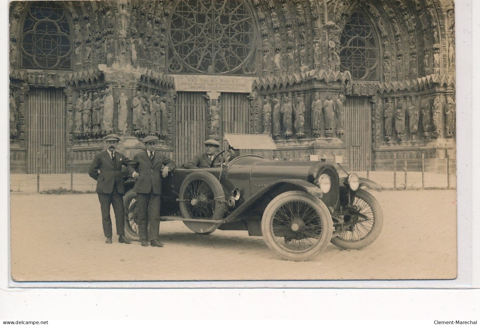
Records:
[[[147,155],[146,150],[142,150],[133,157],[132,164],[129,167],[131,174],[133,170],[140,176],[133,186],[133,191],[137,193],[150,193],[153,189],[155,194],[162,192],[162,165],[167,166],[170,170],[176,167],[176,164],[164,154],[155,151],[153,163]]]

